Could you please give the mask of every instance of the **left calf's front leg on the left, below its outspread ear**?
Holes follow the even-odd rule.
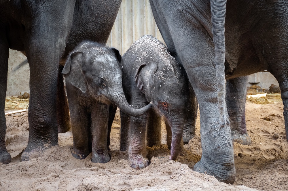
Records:
[[[79,90],[69,82],[66,86],[73,133],[72,155],[77,159],[84,159],[89,155],[89,122],[91,116],[78,100],[77,91]]]

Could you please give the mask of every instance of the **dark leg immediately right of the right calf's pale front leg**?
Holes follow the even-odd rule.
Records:
[[[161,145],[161,116],[151,110],[147,121],[147,146],[154,145]]]

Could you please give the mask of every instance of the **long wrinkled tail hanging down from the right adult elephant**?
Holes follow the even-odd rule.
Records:
[[[210,0],[210,3],[211,3],[212,34],[215,47],[219,125],[220,127],[223,127],[226,124],[226,120],[228,119],[228,116],[226,116],[225,68],[224,68],[226,0]]]

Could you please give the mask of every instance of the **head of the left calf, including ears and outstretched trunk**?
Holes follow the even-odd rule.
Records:
[[[107,104],[112,102],[131,116],[142,115],[151,104],[141,109],[134,109],[128,104],[122,88],[122,73],[119,67],[121,59],[115,48],[84,42],[69,55],[62,74],[66,82],[82,93]]]

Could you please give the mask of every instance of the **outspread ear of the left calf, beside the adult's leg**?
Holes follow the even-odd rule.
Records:
[[[87,83],[81,67],[82,62],[84,62],[83,52],[71,53],[65,63],[62,74],[66,81],[69,81],[73,86],[85,93],[87,91]]]

